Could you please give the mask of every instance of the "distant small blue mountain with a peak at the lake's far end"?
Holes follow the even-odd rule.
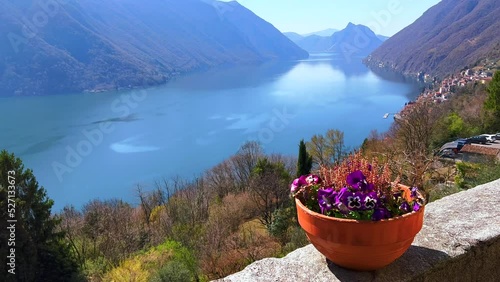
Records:
[[[353,23],[349,23],[346,28],[328,37],[313,34],[297,40],[290,36],[288,38],[311,53],[334,52],[345,56],[367,56],[382,44],[382,40],[368,27]]]

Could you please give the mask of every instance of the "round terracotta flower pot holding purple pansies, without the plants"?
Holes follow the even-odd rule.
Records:
[[[295,203],[299,224],[320,253],[339,266],[365,271],[403,255],[422,228],[425,208],[391,219],[360,221],[313,212],[299,199]]]

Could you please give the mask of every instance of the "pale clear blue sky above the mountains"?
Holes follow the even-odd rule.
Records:
[[[228,2],[229,0],[223,0]],[[440,0],[238,0],[281,32],[300,34],[364,24],[392,36]]]

